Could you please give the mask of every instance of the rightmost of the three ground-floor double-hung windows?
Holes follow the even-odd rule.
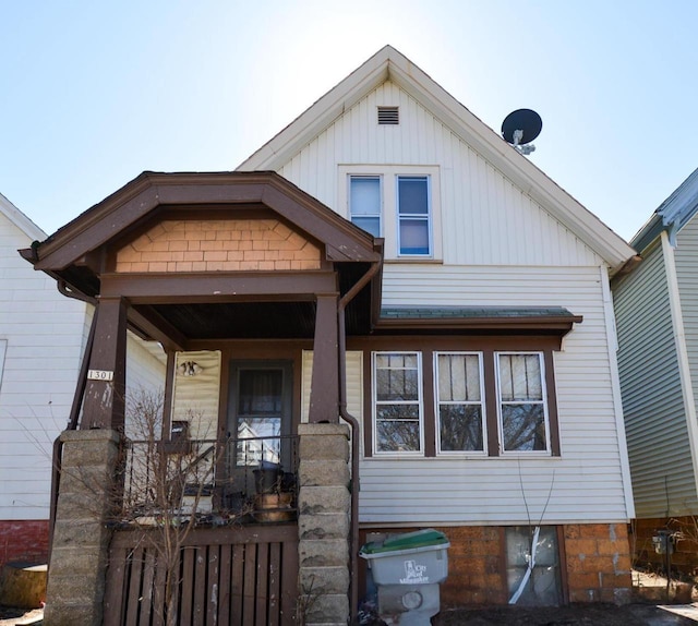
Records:
[[[497,352],[496,364],[502,452],[549,452],[543,354]]]

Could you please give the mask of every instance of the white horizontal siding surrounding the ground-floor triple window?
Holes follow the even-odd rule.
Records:
[[[363,459],[361,521],[627,519],[599,267],[385,267],[386,306],[468,304],[566,306],[583,316],[554,354],[562,457]]]

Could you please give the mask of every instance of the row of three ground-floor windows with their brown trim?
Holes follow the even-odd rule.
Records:
[[[368,455],[559,456],[552,357],[486,339],[471,349],[372,352]]]

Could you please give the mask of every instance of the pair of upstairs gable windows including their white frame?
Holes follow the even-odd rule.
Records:
[[[441,200],[436,166],[339,166],[346,217],[385,239],[385,258],[440,260]]]

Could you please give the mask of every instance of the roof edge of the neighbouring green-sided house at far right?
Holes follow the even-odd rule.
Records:
[[[696,169],[654,210],[647,224],[633,238],[631,245],[642,252],[662,230],[669,231],[670,241],[698,212],[698,169]]]

